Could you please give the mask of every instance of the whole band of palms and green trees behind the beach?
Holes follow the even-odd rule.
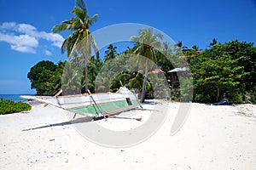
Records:
[[[38,94],[55,94],[60,88],[67,88],[71,94],[86,93],[87,89],[93,93],[115,92],[123,85],[137,91],[142,102],[167,94],[178,101],[214,103],[229,99],[230,103],[256,103],[256,48],[252,42],[220,43],[213,38],[202,50],[197,45],[185,47],[182,41],[174,45],[163,42],[161,34],[144,28],[131,38],[132,47],[118,53],[116,44],[109,44],[100,58],[89,31],[98,15],[89,17],[84,1],[76,3],[75,17],[53,30],[72,31],[61,47],[68,61],[56,65],[40,61],[27,75]],[[91,49],[95,49],[94,54]],[[78,71],[83,75],[80,77],[74,71],[78,65],[84,65],[84,70]],[[189,68],[178,77],[180,83],[163,82],[171,78],[167,71],[180,65]],[[63,74],[68,77],[63,78]]]

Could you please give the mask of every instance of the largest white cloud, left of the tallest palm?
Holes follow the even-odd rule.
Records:
[[[64,41],[60,34],[38,31],[32,25],[15,22],[4,22],[0,25],[0,42],[9,43],[13,50],[35,54],[41,39],[51,42],[51,45],[58,48],[61,48]]]

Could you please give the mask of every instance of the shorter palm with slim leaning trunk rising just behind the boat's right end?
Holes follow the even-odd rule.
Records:
[[[151,60],[153,63],[156,62],[155,48],[160,48],[161,46],[161,42],[157,41],[157,38],[161,39],[162,35],[160,33],[154,33],[152,28],[144,28],[139,31],[139,37],[131,37],[131,41],[137,42],[137,45],[134,48],[134,53],[143,56],[138,57],[136,61],[140,68],[144,67],[143,89],[141,95],[142,103],[145,101],[148,70],[152,69],[148,64],[148,60]]]

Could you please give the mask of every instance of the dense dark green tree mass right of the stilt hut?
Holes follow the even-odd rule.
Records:
[[[241,103],[245,94],[253,94],[255,88],[255,47],[251,42],[238,40],[216,42],[215,39],[209,49],[189,59],[195,81],[194,99],[216,102],[227,98],[232,103]]]

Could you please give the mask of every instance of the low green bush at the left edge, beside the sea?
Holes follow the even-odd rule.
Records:
[[[20,111],[30,111],[32,109],[31,105],[23,102],[15,102],[10,99],[0,99],[0,115],[15,113]]]

